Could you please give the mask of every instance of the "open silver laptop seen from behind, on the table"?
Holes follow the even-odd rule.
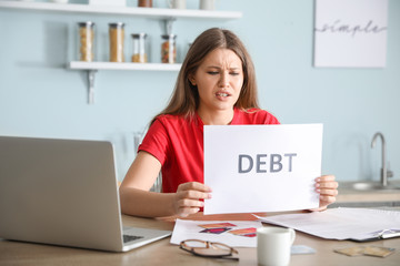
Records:
[[[0,136],[0,238],[126,252],[169,235],[122,226],[110,142]]]

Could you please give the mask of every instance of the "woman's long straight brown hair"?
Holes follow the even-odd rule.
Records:
[[[259,108],[254,65],[243,43],[233,32],[212,28],[202,32],[190,47],[178,74],[170,102],[158,115],[176,114],[193,117],[196,110],[199,108],[200,99],[197,86],[191,84],[189,76],[196,73],[207,54],[219,48],[233,51],[242,62],[243,85],[234,106],[244,111]]]

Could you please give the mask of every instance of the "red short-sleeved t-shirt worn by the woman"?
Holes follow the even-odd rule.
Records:
[[[264,110],[248,112],[234,109],[231,124],[279,124]],[[139,151],[146,151],[160,161],[162,192],[174,193],[186,182],[203,183],[203,122],[178,115],[160,115],[151,124]]]

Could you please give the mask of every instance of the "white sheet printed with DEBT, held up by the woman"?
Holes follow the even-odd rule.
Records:
[[[322,131],[322,124],[206,125],[204,184],[212,198],[204,214],[318,207]]]

